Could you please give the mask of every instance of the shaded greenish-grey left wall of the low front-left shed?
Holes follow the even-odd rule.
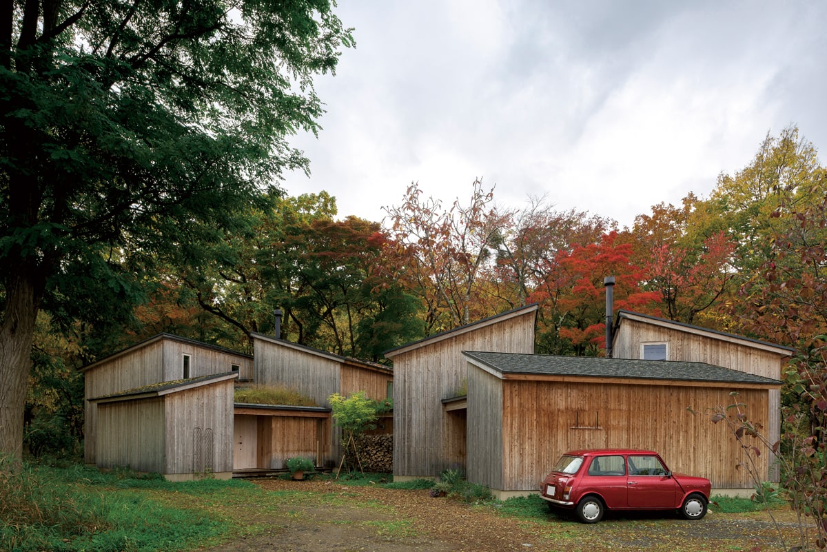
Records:
[[[99,468],[164,473],[164,398],[108,402],[96,409]]]

